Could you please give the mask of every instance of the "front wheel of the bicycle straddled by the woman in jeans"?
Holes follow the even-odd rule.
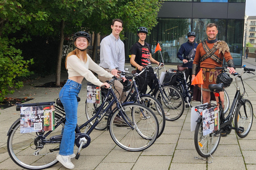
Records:
[[[149,148],[158,136],[158,122],[155,114],[144,105],[133,103],[122,105],[126,120],[133,126],[133,130],[121,117],[119,111],[111,115],[109,133],[116,145],[127,151],[141,151]],[[143,112],[145,119],[140,118]],[[116,124],[116,120],[124,122]]]

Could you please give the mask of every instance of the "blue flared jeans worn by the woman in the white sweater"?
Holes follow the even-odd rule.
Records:
[[[60,143],[60,155],[72,155],[74,152],[75,129],[77,124],[77,96],[82,84],[73,80],[67,80],[60,90],[59,98],[66,113],[66,123]]]

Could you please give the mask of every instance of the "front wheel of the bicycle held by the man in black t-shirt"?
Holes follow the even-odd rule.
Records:
[[[167,95],[163,98],[161,89],[156,92],[155,98],[163,106],[164,112],[169,113],[169,116],[165,115],[167,121],[178,120],[185,109],[185,101],[181,92],[174,86],[163,86],[163,92]],[[165,102],[168,101],[168,103]]]

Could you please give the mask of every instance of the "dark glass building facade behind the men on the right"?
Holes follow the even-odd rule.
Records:
[[[218,25],[218,40],[227,42],[236,66],[242,66],[243,30],[245,1],[244,0],[169,0],[164,1],[158,13],[158,24],[150,30],[146,41],[151,45],[153,57],[165,64],[177,64],[181,44],[188,40],[187,33],[196,33],[195,41],[199,44],[207,39],[206,25]],[[126,61],[130,61],[129,49],[138,41],[138,36],[126,32]],[[157,43],[162,48],[162,57],[156,54]]]

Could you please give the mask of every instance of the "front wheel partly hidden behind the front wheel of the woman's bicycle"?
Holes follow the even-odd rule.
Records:
[[[158,121],[158,126],[159,126],[159,131],[158,131],[158,136],[159,138],[161,134],[164,132],[165,128],[165,114],[164,114],[164,109],[162,105],[159,103],[159,101],[154,98],[153,96],[141,96],[140,97],[142,102],[141,104],[145,105],[148,107],[156,116],[157,121]]]

